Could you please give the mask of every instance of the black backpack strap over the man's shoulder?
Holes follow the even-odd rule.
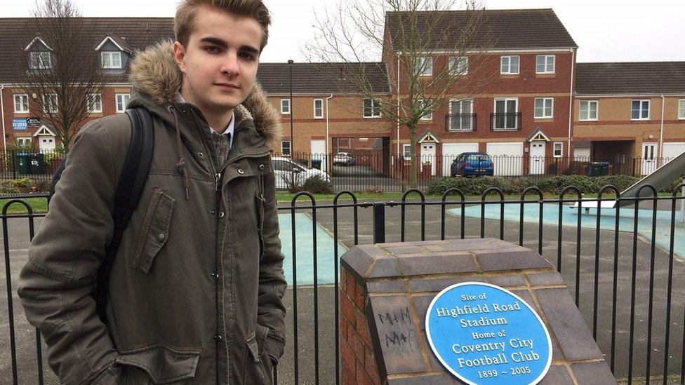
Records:
[[[128,220],[135,207],[138,206],[142,188],[145,187],[149,173],[152,153],[154,151],[154,128],[152,116],[143,107],[127,109],[126,115],[131,119],[131,144],[124,163],[124,170],[114,196],[114,234],[105,249],[105,260],[98,269],[95,299],[98,303],[100,319],[106,324],[105,304],[109,297],[109,273],[112,271],[114,255],[117,254],[121,236],[128,226]]]

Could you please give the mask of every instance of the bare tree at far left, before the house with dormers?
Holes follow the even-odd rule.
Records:
[[[36,39],[22,56],[26,71],[20,88],[68,151],[90,113],[89,104],[102,105],[101,97],[89,95],[100,95],[107,74],[72,0],[36,0],[33,16],[27,28]]]

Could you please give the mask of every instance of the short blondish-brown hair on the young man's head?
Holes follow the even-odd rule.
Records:
[[[253,18],[262,27],[260,50],[267,45],[271,15],[262,0],[183,0],[176,8],[176,16],[173,20],[176,40],[183,46],[187,46],[190,34],[195,29],[195,13],[200,6],[211,6],[232,15]]]

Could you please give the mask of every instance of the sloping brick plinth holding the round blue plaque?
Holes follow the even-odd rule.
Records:
[[[512,291],[543,320],[552,366],[540,384],[616,384],[561,275],[538,253],[499,239],[379,243],[342,256],[344,384],[462,384],[425,335],[437,293],[485,282]]]

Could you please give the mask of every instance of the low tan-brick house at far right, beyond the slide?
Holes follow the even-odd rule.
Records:
[[[574,155],[649,174],[685,151],[685,62],[578,63]]]

